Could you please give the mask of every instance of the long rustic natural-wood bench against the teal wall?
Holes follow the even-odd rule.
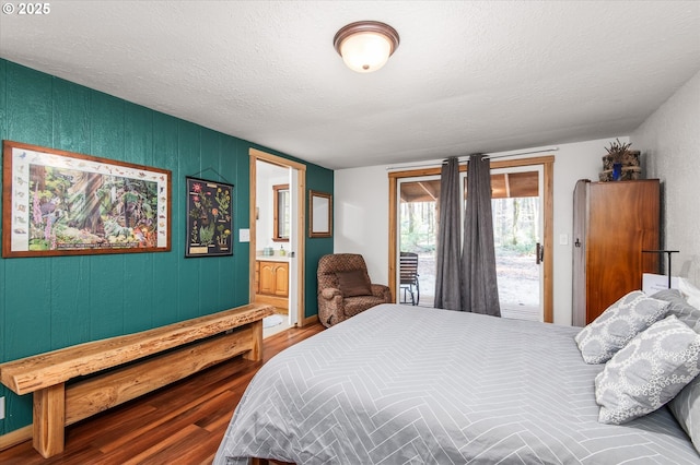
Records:
[[[50,457],[63,451],[68,425],[237,355],[260,360],[262,319],[273,312],[250,303],[9,361],[0,381],[19,395],[34,393],[33,445]]]

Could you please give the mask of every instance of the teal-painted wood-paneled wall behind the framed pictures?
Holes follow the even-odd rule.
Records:
[[[2,59],[0,139],[173,174],[170,252],[0,260],[0,362],[248,302],[248,243],[237,241],[249,227],[248,151],[294,158]],[[332,192],[331,170],[295,160],[308,189]],[[185,259],[185,177],[223,180],[215,172],[234,184],[234,254]],[[318,258],[331,252],[332,239],[306,238],[306,317],[317,314]],[[0,434],[32,422],[31,395],[0,385]]]

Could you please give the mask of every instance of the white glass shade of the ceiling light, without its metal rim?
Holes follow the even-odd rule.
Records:
[[[389,59],[392,44],[377,33],[354,34],[340,44],[342,61],[352,71],[371,73],[382,68]]]

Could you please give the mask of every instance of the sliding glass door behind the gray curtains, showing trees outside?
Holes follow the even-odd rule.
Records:
[[[541,165],[491,170],[493,231],[501,313],[542,321],[544,169]],[[463,199],[468,176],[462,172]],[[432,307],[435,289],[435,241],[440,217],[440,176],[397,181],[396,293],[401,303]],[[462,208],[460,224],[464,224]],[[417,283],[401,258],[418,259]]]

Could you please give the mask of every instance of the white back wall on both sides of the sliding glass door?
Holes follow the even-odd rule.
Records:
[[[602,157],[612,139],[560,144],[555,162],[555,323],[571,324],[573,188],[579,179],[598,179]],[[627,138],[620,138],[627,142]],[[547,155],[547,154],[538,154]],[[435,165],[438,166],[438,165]],[[388,282],[387,166],[340,169],[335,172],[336,252],[362,253],[374,282]],[[568,245],[559,245],[567,235]]]

